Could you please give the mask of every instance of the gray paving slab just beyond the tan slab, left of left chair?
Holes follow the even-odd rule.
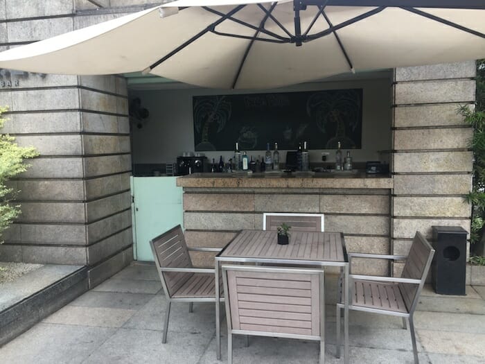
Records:
[[[139,310],[155,295],[89,291],[71,302],[71,306],[106,307],[108,309]]]

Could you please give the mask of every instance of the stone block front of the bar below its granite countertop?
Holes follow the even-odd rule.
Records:
[[[184,187],[186,241],[222,248],[240,229],[263,229],[264,212],[325,214],[325,230],[343,232],[349,252],[388,254],[389,189],[229,189]],[[196,266],[213,266],[213,254],[192,253]],[[329,268],[328,268],[329,269]],[[327,269],[327,270],[328,270]],[[387,273],[386,261],[371,266],[355,259],[353,272]]]

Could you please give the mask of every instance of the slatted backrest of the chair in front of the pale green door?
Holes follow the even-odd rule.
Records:
[[[191,257],[182,232],[177,225],[164,234],[150,241],[155,263],[167,294],[171,297],[177,290],[192,277],[193,273],[162,272],[160,268],[193,268]]]

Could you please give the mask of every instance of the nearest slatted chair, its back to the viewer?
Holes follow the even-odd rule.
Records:
[[[229,364],[234,334],[318,340],[324,363],[324,270],[222,266],[222,280]]]

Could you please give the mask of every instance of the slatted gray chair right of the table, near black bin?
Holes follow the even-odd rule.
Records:
[[[349,253],[350,266],[352,258],[406,260],[400,278],[350,274],[352,302],[349,309],[401,317],[404,328],[409,322],[415,364],[419,361],[413,315],[433,255],[434,249],[420,232],[416,232],[408,256]],[[337,358],[340,357],[340,310],[343,308],[343,303],[337,304]]]

